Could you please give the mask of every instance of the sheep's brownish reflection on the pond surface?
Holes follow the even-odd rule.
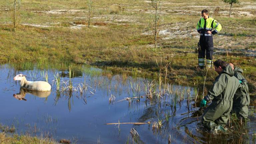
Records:
[[[51,94],[51,91],[32,91],[32,90],[20,88],[20,93],[13,94],[13,97],[16,98],[17,100],[27,101],[25,99],[25,96],[27,93],[37,96],[39,98],[47,98]]]

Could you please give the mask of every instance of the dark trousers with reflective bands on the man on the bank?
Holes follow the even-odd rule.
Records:
[[[213,37],[211,36],[200,36],[201,51],[198,52],[198,65],[204,67],[204,58],[206,55],[206,63],[208,68],[212,68],[213,59]]]

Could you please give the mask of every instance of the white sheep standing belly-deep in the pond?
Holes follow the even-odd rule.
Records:
[[[26,75],[18,74],[16,75],[13,80],[20,80],[20,86],[22,88],[33,90],[33,91],[50,91],[51,85],[45,81],[27,81],[25,78]]]

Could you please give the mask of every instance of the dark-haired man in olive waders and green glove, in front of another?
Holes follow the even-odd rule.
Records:
[[[237,88],[244,88],[243,84],[246,83],[246,80],[240,84],[240,81],[233,76],[232,67],[226,66],[222,60],[216,60],[214,68],[219,75],[216,77],[212,89],[200,103],[200,106],[203,107],[207,101],[212,101],[204,111],[202,123],[209,130],[223,130],[232,110],[234,94]]]

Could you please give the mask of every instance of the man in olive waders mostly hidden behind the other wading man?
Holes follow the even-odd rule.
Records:
[[[229,65],[234,70],[234,76],[238,80],[245,79],[242,75],[243,70],[239,67],[234,67],[232,63],[229,63]],[[250,96],[249,96],[249,89],[248,85],[245,85],[244,90],[237,89],[234,99],[233,99],[233,112],[236,113],[237,117],[248,119],[248,113],[249,113],[249,105],[250,105]]]

